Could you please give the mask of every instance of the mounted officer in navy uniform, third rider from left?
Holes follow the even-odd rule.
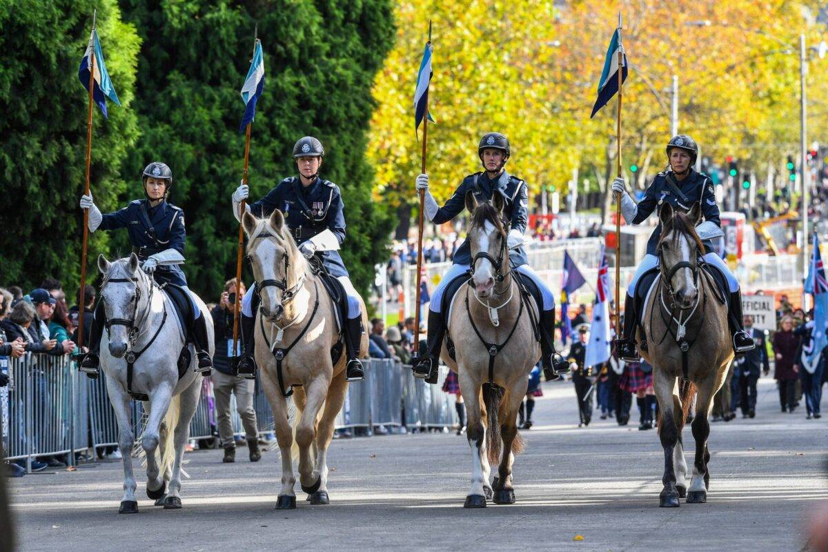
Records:
[[[507,238],[510,250],[509,262],[519,274],[527,276],[542,295],[542,305],[538,306],[541,310],[541,357],[544,372],[547,374],[547,379],[552,373],[566,373],[569,370],[569,364],[555,352],[555,296],[540,276],[528,266],[526,251],[522,247],[523,232],[527,225],[526,182],[503,170],[512,150],[507,137],[500,132],[485,134],[480,139],[477,151],[484,170],[466,176],[455,190],[454,195],[442,207],[437,205],[434,196],[428,190],[428,175],[416,177],[416,190],[423,190],[426,195],[426,217],[435,224],[450,221],[465,209],[465,196],[469,192],[474,194],[478,203],[490,201],[494,194],[503,196],[506,204],[503,214],[508,219],[509,228]],[[428,311],[428,347],[426,354],[418,358],[414,364],[414,375],[426,378],[426,381],[430,383],[436,383],[437,364],[445,336],[445,319],[440,312],[442,308],[440,304],[443,301],[446,287],[452,281],[459,277],[468,277],[471,266],[469,238],[466,238],[457,249],[452,262],[451,268],[446,271],[440,280],[440,285],[431,295],[431,305]]]

